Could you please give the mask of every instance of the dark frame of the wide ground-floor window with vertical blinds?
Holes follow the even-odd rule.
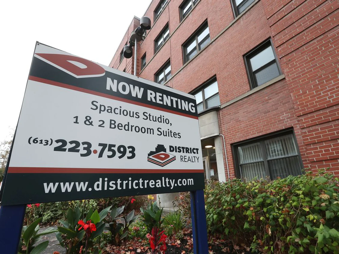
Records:
[[[248,140],[244,140],[244,141],[240,141],[240,142],[231,144],[232,157],[233,157],[233,165],[234,165],[234,168],[235,168],[235,176],[237,178],[241,178],[240,163],[239,163],[240,162],[240,158],[239,158],[239,154],[238,154],[238,151],[237,151],[238,147],[249,145],[249,144],[256,143],[256,142],[260,142],[260,148],[261,148],[261,152],[262,152],[262,156],[263,156],[263,162],[264,162],[264,167],[265,167],[265,174],[266,174],[266,176],[269,176],[272,179],[272,175],[271,175],[270,169],[268,167],[268,160],[274,160],[274,159],[268,159],[267,160],[265,148],[263,148],[263,143],[266,140],[274,139],[276,137],[284,136],[284,135],[288,135],[288,134],[292,134],[292,136],[293,136],[293,141],[294,141],[294,143],[296,145],[297,155],[291,155],[291,156],[285,156],[285,157],[298,157],[299,158],[298,162],[300,164],[300,173],[302,174],[303,173],[302,169],[304,168],[304,166],[303,166],[303,162],[302,162],[302,158],[301,158],[301,154],[300,154],[300,149],[299,149],[299,145],[298,145],[298,142],[297,142],[297,138],[296,138],[294,129],[293,128],[288,128],[288,129],[279,130],[279,131],[276,131],[276,132],[272,132],[272,133],[268,133],[268,134],[261,135],[261,136],[258,136],[258,137],[254,137],[252,139],[248,139]],[[284,158],[284,157],[281,157],[281,158]]]

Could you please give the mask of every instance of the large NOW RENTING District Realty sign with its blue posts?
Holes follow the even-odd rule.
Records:
[[[203,172],[194,96],[37,43],[0,227],[13,211],[18,239],[25,204],[191,191],[205,250]]]

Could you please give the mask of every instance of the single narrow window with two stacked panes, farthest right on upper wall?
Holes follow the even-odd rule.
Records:
[[[260,86],[281,74],[271,40],[264,42],[247,54],[245,63],[252,88]]]

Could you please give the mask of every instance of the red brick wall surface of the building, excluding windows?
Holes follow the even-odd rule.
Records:
[[[221,105],[251,90],[243,56],[272,38],[284,76],[219,110],[232,177],[232,144],[291,127],[303,166],[330,167],[339,175],[339,1],[260,0],[235,19],[231,1],[200,0],[180,21],[182,0],[171,0],[154,22],[158,3],[152,1],[145,13],[152,29],[139,47],[138,64],[146,52],[146,67],[140,71],[139,66],[138,75],[154,81],[170,58],[172,78],[166,85],[191,92],[216,76]],[[212,42],[184,65],[182,45],[206,19]],[[167,23],[171,37],[155,54],[154,40]],[[110,65],[114,68],[120,47]],[[129,66],[124,61],[117,68]]]

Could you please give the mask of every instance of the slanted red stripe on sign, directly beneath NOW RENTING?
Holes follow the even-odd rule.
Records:
[[[77,86],[67,85],[67,84],[64,84],[64,83],[60,83],[60,82],[56,82],[56,81],[52,81],[52,80],[48,80],[48,79],[42,79],[42,78],[38,78],[38,77],[34,77],[34,76],[29,76],[28,79],[32,80],[32,81],[37,81],[37,82],[53,85],[53,86],[59,86],[59,87],[63,87],[63,88],[67,88],[67,89],[71,89],[71,90],[75,90],[75,91],[79,91],[79,92],[93,94],[93,95],[97,95],[97,96],[100,96],[100,97],[113,99],[113,100],[116,100],[116,101],[122,101],[122,102],[135,104],[135,105],[146,107],[146,108],[153,108],[153,109],[156,109],[156,110],[165,111],[165,112],[172,113],[172,114],[182,115],[183,117],[198,119],[198,117],[195,117],[194,115],[180,113],[180,112],[177,112],[177,111],[174,111],[174,110],[160,108],[160,107],[148,105],[148,104],[145,104],[145,103],[128,100],[128,99],[120,98],[120,97],[117,97],[117,96],[109,95],[109,94],[106,94],[106,93],[96,92],[96,91],[92,91],[92,90],[89,90],[89,89],[77,87]]]

